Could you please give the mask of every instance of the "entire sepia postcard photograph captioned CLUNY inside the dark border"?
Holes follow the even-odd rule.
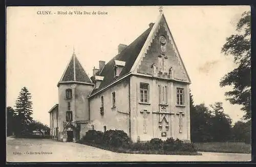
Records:
[[[6,9],[6,162],[251,161],[250,6]]]

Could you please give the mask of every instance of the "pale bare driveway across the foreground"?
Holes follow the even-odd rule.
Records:
[[[209,153],[202,155],[124,154],[74,142],[52,139],[7,137],[8,162],[92,162],[92,161],[249,161],[251,154]]]

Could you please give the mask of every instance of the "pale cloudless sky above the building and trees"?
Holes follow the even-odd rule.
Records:
[[[58,103],[57,83],[75,51],[87,74],[117,55],[155,22],[158,6],[8,7],[6,104],[15,108],[22,87],[32,95],[34,120],[49,125],[48,111]],[[221,53],[226,37],[249,6],[163,6],[169,29],[191,79],[194,103],[223,102],[224,112],[240,121],[241,106],[225,100],[220,79],[237,65]],[[51,11],[51,15],[37,14]],[[73,14],[58,15],[58,11]],[[91,14],[74,14],[74,11]],[[92,14],[92,12],[96,14]],[[107,14],[98,14],[107,12]],[[56,13],[56,14],[54,14]]]

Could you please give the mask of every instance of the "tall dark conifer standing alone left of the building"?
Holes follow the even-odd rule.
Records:
[[[31,117],[33,112],[31,93],[26,87],[23,87],[19,92],[15,107],[16,133],[21,135],[26,133],[28,124],[33,121]]]

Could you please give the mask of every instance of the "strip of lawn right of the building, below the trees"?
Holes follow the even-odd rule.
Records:
[[[251,153],[251,145],[244,142],[202,142],[195,145],[203,152]]]

